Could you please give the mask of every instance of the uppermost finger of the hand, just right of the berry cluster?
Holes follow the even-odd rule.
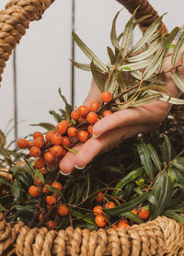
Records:
[[[167,102],[157,100],[142,107],[117,111],[96,122],[93,127],[93,134],[97,137],[127,125],[145,124],[146,126],[153,126],[153,124],[164,120],[169,109],[170,106]]]

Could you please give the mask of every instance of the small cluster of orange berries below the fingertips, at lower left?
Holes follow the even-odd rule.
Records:
[[[45,203],[46,203],[46,208],[47,211],[45,211],[44,209],[42,209],[42,212],[39,215],[39,220],[41,221],[41,219],[43,218],[43,212],[45,215],[47,215],[51,209],[56,209],[57,214],[60,216],[66,216],[69,214],[69,208],[68,206],[66,206],[65,204],[57,204],[57,199],[59,198],[59,194],[56,192],[51,192],[48,189],[48,186],[50,186],[49,184],[46,185],[40,185],[40,186],[35,186],[32,185],[29,187],[29,194],[31,197],[33,198],[37,198],[40,196],[40,193],[42,193],[45,196]],[[58,191],[62,191],[63,189],[63,185],[60,182],[52,182],[51,184],[52,188],[57,189]],[[51,194],[52,193],[52,194]],[[43,203],[43,202],[42,202]],[[47,220],[47,218],[45,219],[46,221],[46,225],[49,228],[55,228],[55,222],[53,220]]]

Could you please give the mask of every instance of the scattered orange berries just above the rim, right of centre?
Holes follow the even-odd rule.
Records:
[[[104,193],[103,192],[98,192],[98,196],[96,197],[96,202],[99,203],[104,203]],[[111,201],[105,204],[104,208],[105,209],[110,209],[115,207],[116,205]],[[134,215],[138,215],[140,218],[147,220],[148,217],[150,216],[150,211],[148,209],[145,209],[144,207],[141,208],[141,210],[138,212],[137,210],[132,210],[132,213]],[[93,208],[93,214],[96,216],[95,217],[95,222],[98,225],[98,227],[106,227],[107,225],[107,219],[108,215],[106,215],[103,212],[103,208],[101,205],[97,205]],[[133,224],[131,220],[131,224]],[[122,218],[117,224],[113,224],[112,228],[116,229],[118,227],[121,228],[126,228],[130,227],[130,223],[128,219]]]

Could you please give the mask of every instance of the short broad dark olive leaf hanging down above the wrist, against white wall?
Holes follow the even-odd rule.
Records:
[[[103,74],[98,70],[98,67],[94,62],[92,61],[90,64],[91,73],[93,75],[93,78],[98,85],[98,88],[100,91],[104,91],[104,87],[106,84],[107,74]]]

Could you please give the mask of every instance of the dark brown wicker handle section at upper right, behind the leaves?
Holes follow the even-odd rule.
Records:
[[[146,15],[151,15],[151,17],[147,17],[139,25],[143,33],[146,29],[148,29],[148,27],[152,24],[152,22],[154,22],[155,18],[158,17],[158,14],[155,11],[154,7],[151,6],[147,0],[117,0],[117,1],[121,3],[122,6],[125,6],[125,8],[130,13],[133,13],[133,11],[139,6],[135,14],[136,19],[140,17],[144,17]],[[158,29],[160,30],[162,35],[167,33],[167,28],[163,22],[160,23],[160,26]]]

